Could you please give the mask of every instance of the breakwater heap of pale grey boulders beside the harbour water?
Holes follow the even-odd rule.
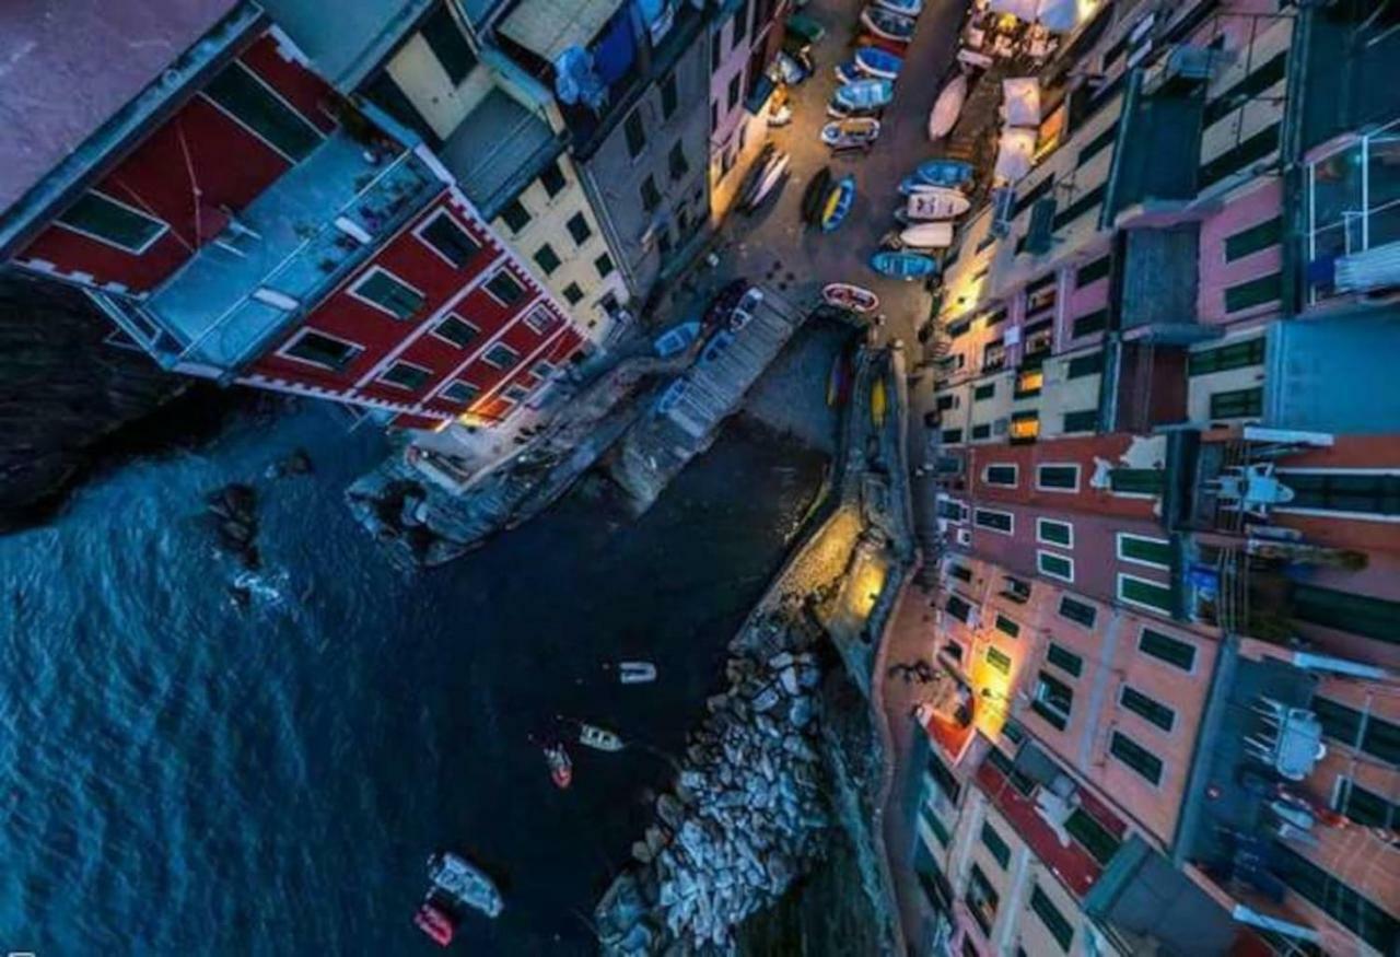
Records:
[[[707,702],[636,863],[598,905],[603,953],[731,950],[736,925],[822,856],[830,814],[811,639],[787,603],[731,645],[729,690]]]

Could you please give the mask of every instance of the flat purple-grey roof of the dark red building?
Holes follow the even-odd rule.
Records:
[[[239,3],[0,3],[0,211],[161,78]]]

